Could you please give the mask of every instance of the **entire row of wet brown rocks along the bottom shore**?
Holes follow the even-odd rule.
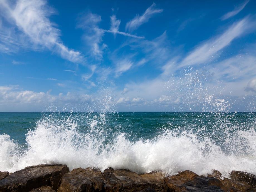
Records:
[[[78,168],[66,165],[36,165],[9,174],[0,172],[0,191],[256,191],[256,176],[232,171],[230,178],[221,173],[199,176],[183,171],[173,176],[162,172],[137,174],[125,169]]]

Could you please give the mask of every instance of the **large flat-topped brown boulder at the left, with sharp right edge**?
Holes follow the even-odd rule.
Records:
[[[66,165],[26,167],[0,180],[0,191],[31,191],[41,186],[51,186],[57,190],[61,177],[68,172]]]

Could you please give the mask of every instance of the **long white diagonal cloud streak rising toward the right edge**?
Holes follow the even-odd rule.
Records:
[[[218,51],[230,45],[235,38],[248,33],[254,26],[255,22],[250,21],[248,18],[244,18],[237,23],[234,23],[220,36],[202,43],[198,48],[191,51],[191,53],[179,64],[179,67],[192,66],[211,61]]]

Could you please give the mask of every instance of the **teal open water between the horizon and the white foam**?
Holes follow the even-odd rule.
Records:
[[[90,127],[93,116],[99,112],[0,112],[0,134],[8,134],[20,144],[26,142],[28,130],[34,130],[38,121],[48,118],[60,122],[68,117],[77,122],[80,130]],[[255,125],[256,113],[210,113],[210,112],[106,112],[104,128],[113,132],[124,132],[130,140],[150,139],[166,129],[177,129],[177,132],[193,130],[199,137],[211,136],[222,129],[237,131],[249,130]],[[50,117],[50,118],[49,118]],[[222,128],[222,129],[221,129]],[[216,138],[217,139],[217,138]]]

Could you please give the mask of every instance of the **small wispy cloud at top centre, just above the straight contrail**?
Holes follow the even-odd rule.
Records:
[[[163,9],[156,9],[155,6],[156,4],[153,3],[149,8],[147,8],[142,16],[137,15],[135,18],[129,21],[125,26],[125,30],[134,31],[142,24],[147,23],[155,14],[163,12]]]

